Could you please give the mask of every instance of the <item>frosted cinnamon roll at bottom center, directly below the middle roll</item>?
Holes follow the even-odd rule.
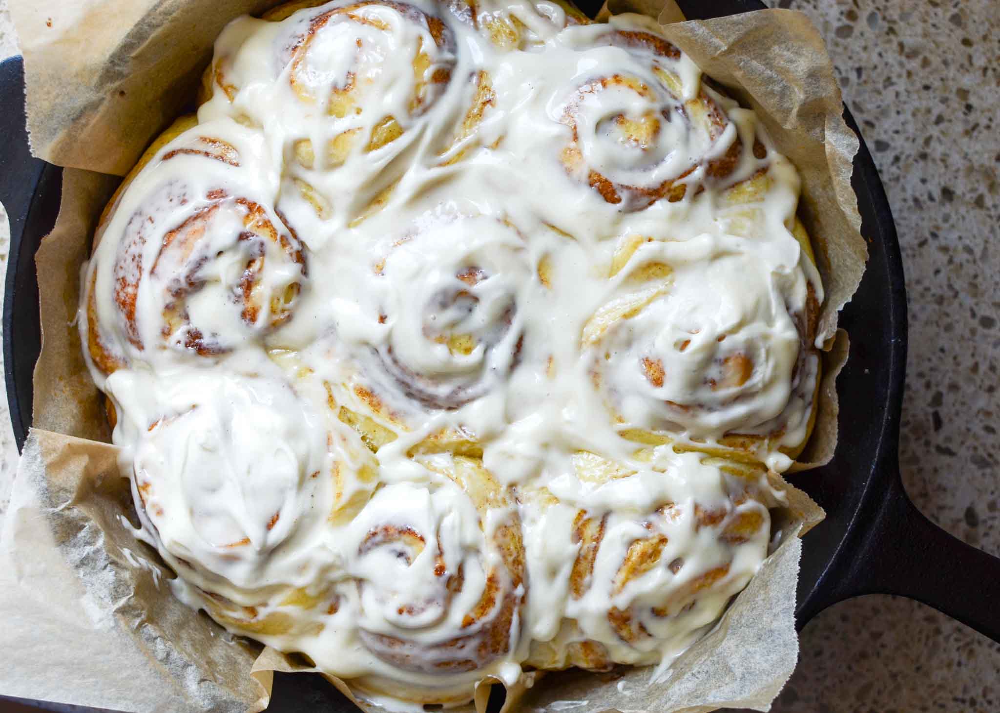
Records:
[[[437,455],[424,465],[435,475],[428,484],[380,489],[351,523],[346,570],[364,646],[440,702],[442,686],[467,687],[517,646],[525,564],[516,511],[478,460]]]

